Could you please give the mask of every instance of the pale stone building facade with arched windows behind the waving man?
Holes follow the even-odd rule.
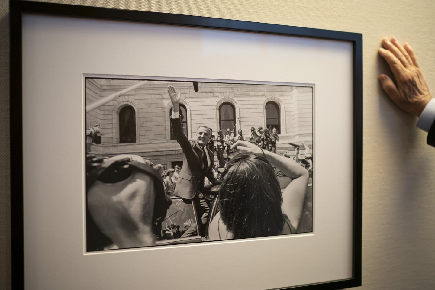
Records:
[[[86,105],[125,90],[138,80],[86,79]],[[313,143],[313,87],[238,83],[198,83],[150,80],[86,113],[86,127],[98,126],[101,144],[92,144],[96,155],[137,154],[174,167],[183,160],[171,133],[172,103],[167,86],[181,93],[184,133],[194,139],[197,128],[206,125],[213,135],[221,129],[241,129],[250,136],[251,127],[276,128],[280,141],[277,153],[292,152],[288,142]],[[301,152],[303,153],[303,152]]]

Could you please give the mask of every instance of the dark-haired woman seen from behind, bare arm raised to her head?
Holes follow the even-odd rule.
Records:
[[[296,233],[308,183],[308,171],[289,158],[238,141],[239,152],[225,166],[219,213],[210,223],[209,240]],[[282,191],[272,166],[291,182]]]

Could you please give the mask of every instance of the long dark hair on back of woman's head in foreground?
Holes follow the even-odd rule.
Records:
[[[279,234],[284,225],[281,203],[281,188],[268,160],[242,152],[228,161],[219,210],[234,239]]]

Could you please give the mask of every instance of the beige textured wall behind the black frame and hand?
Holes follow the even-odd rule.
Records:
[[[360,289],[435,289],[435,148],[415,118],[398,110],[376,77],[381,37],[417,51],[435,92],[435,2],[432,0],[52,0],[134,10],[358,32],[364,40],[363,249]],[[8,5],[0,4],[0,288],[10,288],[8,161]],[[333,68],[331,68],[333,69]]]

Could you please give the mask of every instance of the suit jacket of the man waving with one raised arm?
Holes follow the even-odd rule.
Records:
[[[197,141],[187,139],[181,128],[180,118],[169,118],[172,125],[172,133],[183,150],[183,166],[175,185],[174,194],[191,200],[197,193],[197,190],[204,188],[204,177],[207,177],[211,183],[216,184],[211,168],[213,167],[214,152],[204,147],[209,156],[208,167],[203,170],[204,151]]]

